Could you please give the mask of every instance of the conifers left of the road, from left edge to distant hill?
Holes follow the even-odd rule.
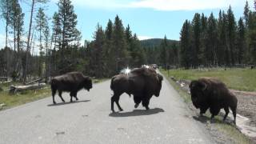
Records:
[[[26,2],[31,6],[27,30],[18,0],[1,0],[6,44],[0,50],[0,76],[26,82],[28,77],[47,79],[78,70],[105,78],[126,66],[138,67],[146,63],[146,52],[137,35],[132,33],[129,25],[123,26],[118,15],[114,22],[109,20],[105,30],[96,26],[94,39],[81,46],[82,36],[76,28],[77,15],[70,0],[59,0],[58,11],[52,18],[45,13],[47,0]]]

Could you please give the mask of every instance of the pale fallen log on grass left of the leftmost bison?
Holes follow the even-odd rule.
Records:
[[[26,85],[26,86],[10,86],[10,93],[16,94],[18,91],[23,90],[37,90],[42,89],[44,86],[46,86],[46,83],[37,83],[33,85]]]

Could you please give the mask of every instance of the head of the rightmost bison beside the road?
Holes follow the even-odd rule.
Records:
[[[207,85],[204,82],[192,81],[190,82],[190,94],[193,105],[199,108],[205,101],[204,90],[206,90]]]

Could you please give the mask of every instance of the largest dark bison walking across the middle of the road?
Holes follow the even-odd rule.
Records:
[[[157,74],[153,68],[136,68],[129,74],[118,74],[111,79],[110,88],[114,91],[111,98],[111,110],[114,112],[114,102],[118,109],[122,111],[119,105],[120,95],[123,93],[133,94],[135,108],[142,102],[142,106],[149,110],[150,98],[159,96],[162,88],[162,75]]]

